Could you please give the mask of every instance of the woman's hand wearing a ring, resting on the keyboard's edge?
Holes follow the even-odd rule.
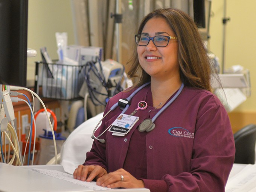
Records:
[[[123,178],[123,179],[122,179]],[[144,183],[142,180],[137,180],[133,175],[124,169],[118,169],[117,171],[110,172],[107,175],[99,177],[97,179],[97,185],[108,188],[143,188]]]

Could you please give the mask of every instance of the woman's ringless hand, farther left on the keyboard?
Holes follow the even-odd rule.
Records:
[[[107,171],[99,165],[79,165],[73,173],[73,177],[77,180],[90,182],[94,178],[98,179],[103,175],[107,175]]]

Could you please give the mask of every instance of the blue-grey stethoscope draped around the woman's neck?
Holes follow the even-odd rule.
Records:
[[[117,103],[115,103],[110,110],[101,118],[101,120],[98,122],[98,124],[96,125],[96,127],[93,130],[93,135],[91,136],[92,139],[96,139],[99,142],[101,142],[102,144],[104,144],[106,141],[105,139],[99,139],[100,136],[102,136],[108,129],[110,129],[111,125],[104,130],[104,132],[102,132],[98,137],[94,136],[94,133],[96,132],[96,130],[98,129],[99,124],[102,122],[102,120],[108,115],[108,113],[110,113],[111,111],[113,111],[114,109],[116,109],[117,106],[120,106],[122,110],[121,113],[125,113],[126,110],[129,108],[130,106],[130,101],[133,98],[134,95],[137,94],[137,92],[139,92],[141,89],[143,89],[145,86],[149,85],[150,82],[143,84],[142,86],[140,86],[138,89],[136,89],[129,97],[127,97],[126,99],[120,99]],[[167,108],[169,107],[172,102],[180,95],[182,89],[184,88],[184,84],[182,83],[179,90],[177,91],[177,93],[174,95],[174,97],[171,98],[170,101],[168,101],[168,103],[165,104],[165,106],[163,106],[152,119],[145,119],[144,121],[142,121],[139,125],[139,132],[150,132],[155,128],[155,120],[157,119],[157,117]],[[120,114],[121,114],[120,113]]]

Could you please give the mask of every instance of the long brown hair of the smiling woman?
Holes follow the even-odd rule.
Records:
[[[189,15],[178,9],[156,9],[143,18],[137,34],[142,32],[145,24],[153,17],[164,18],[178,37],[178,63],[181,81],[184,85],[211,91],[211,62],[194,21]],[[140,86],[150,81],[150,76],[140,67],[136,48],[128,66],[130,67],[128,75],[131,78],[139,78],[134,86]]]

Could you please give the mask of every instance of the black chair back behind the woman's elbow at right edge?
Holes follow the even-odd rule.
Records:
[[[255,163],[256,125],[249,124],[234,134],[235,163]]]

